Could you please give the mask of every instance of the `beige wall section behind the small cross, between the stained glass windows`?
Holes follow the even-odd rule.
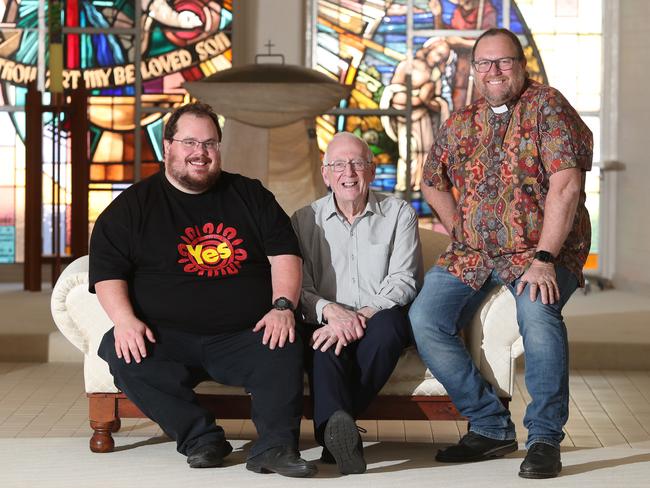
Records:
[[[252,64],[256,54],[283,54],[286,64],[305,59],[304,0],[235,0],[233,3],[233,65]],[[271,61],[268,61],[271,62]]]

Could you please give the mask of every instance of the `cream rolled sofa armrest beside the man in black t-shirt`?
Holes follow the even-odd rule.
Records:
[[[88,291],[88,256],[75,259],[61,273],[50,306],[61,333],[84,353],[86,392],[117,392],[108,364],[97,355],[102,337],[113,324],[97,296]]]

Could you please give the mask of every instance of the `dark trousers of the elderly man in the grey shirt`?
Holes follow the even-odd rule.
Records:
[[[316,326],[305,327],[308,334]],[[314,402],[314,433],[323,444],[323,432],[330,416],[345,410],[353,417],[368,408],[395,369],[402,350],[412,342],[406,312],[399,308],[380,310],[366,323],[364,336],[334,354],[314,351],[305,343],[305,368]]]

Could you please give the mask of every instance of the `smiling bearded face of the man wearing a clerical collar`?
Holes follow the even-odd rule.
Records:
[[[501,71],[494,63],[487,73],[478,73],[474,70],[476,89],[493,107],[503,105],[519,96],[526,82],[526,60],[517,59],[517,49],[503,34],[482,38],[474,50],[475,61],[493,61],[505,57],[515,58],[510,70]]]

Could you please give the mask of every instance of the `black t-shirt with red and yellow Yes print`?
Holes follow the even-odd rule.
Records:
[[[271,308],[267,256],[299,246],[287,214],[257,180],[222,172],[192,195],[161,171],[122,192],[90,239],[90,292],[125,280],[137,317],[195,333],[251,328]]]

